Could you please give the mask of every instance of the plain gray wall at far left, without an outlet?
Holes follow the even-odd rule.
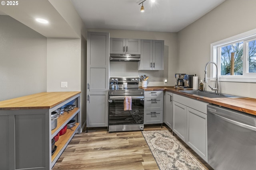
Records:
[[[46,92],[46,37],[0,15],[0,101]]]

